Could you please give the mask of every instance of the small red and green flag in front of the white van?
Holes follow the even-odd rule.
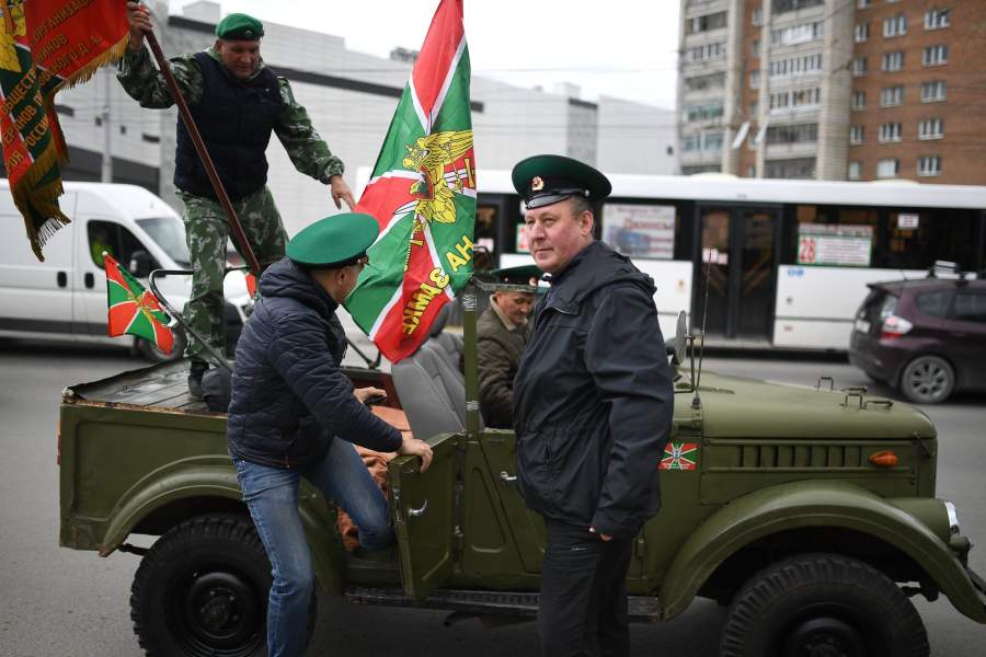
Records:
[[[112,337],[136,335],[171,354],[174,348],[174,332],[168,327],[171,318],[161,310],[158,298],[144,289],[140,281],[108,253],[103,256],[103,264],[110,306],[108,334]]]

